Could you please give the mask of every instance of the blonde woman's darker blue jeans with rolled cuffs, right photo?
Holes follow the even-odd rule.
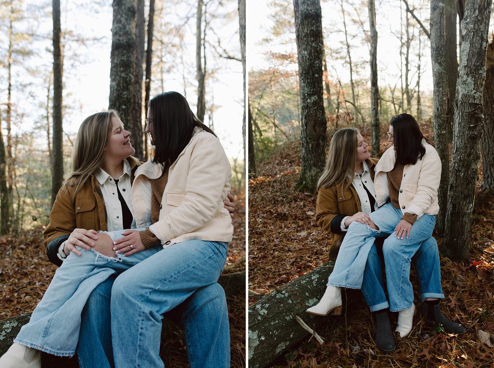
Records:
[[[444,298],[441,288],[439,250],[434,237],[422,242],[417,253],[413,256],[413,262],[415,263],[421,300],[424,301],[428,297]],[[362,294],[364,294],[371,312],[389,308],[386,294],[384,294],[382,262],[375,243],[372,245],[367,258],[362,282]]]

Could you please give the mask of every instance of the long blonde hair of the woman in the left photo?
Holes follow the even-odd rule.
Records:
[[[86,117],[79,127],[72,154],[73,171],[67,179],[67,186],[75,187],[74,194],[103,164],[114,117],[119,117],[116,110],[98,112]]]

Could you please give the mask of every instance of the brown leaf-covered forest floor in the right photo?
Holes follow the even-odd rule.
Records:
[[[430,126],[421,129],[431,136]],[[371,142],[369,129],[362,129],[362,134],[365,142]],[[381,137],[385,135],[384,130]],[[389,143],[381,142],[381,152],[387,147]],[[315,223],[316,196],[294,190],[300,164],[300,142],[288,143],[258,164],[258,177],[249,183],[248,288],[259,294],[281,288],[328,261],[331,236]],[[441,309],[467,326],[466,333],[456,336],[431,331],[415,314],[410,336],[398,340],[394,352],[382,353],[373,341],[369,309],[362,294],[354,291],[348,293],[348,305],[341,316],[330,316],[332,321],[327,326],[316,328],[325,340],[323,344],[307,336],[273,366],[494,367],[494,349],[490,346],[494,335],[494,193],[477,192],[473,217],[469,259],[453,262],[441,256],[446,295]],[[437,240],[441,244],[442,239]],[[413,267],[411,280],[416,291]],[[248,302],[255,300],[249,297]],[[417,293],[415,305],[420,305]],[[491,336],[488,343],[481,342],[479,331]]]

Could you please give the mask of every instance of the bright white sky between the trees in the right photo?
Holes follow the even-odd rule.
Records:
[[[292,1],[286,0],[287,6],[290,9],[293,8]],[[331,49],[340,49],[341,56],[346,56],[346,50],[343,49],[343,18],[341,15],[341,7],[339,0],[321,1],[322,15],[323,15],[323,32],[325,33],[325,44]],[[354,1],[358,3],[358,1]],[[413,1],[409,1],[412,3]],[[418,3],[418,1],[416,1]],[[365,2],[366,4],[367,2]],[[400,3],[399,0],[376,0],[376,28],[378,33],[377,41],[377,66],[378,66],[378,78],[379,84],[391,84],[392,86],[398,82],[399,84],[399,66],[400,66],[400,54],[399,54],[399,35],[400,30]],[[249,17],[249,55],[261,55],[266,50],[270,51],[288,51],[296,53],[296,44],[293,41],[289,45],[272,42],[268,46],[260,42],[264,37],[270,36],[270,28],[273,22],[269,19],[269,16],[273,14],[273,10],[269,6],[270,1],[256,1],[255,8],[251,8],[251,16]],[[365,29],[369,30],[368,10],[367,6],[361,7],[362,11],[360,19],[364,24]],[[369,63],[369,48],[363,40],[362,27],[355,25],[350,21],[350,18],[358,19],[358,16],[352,6],[348,2],[345,2],[346,10],[346,23],[348,33],[350,35],[349,42],[351,45],[352,62],[364,62]],[[419,16],[422,16],[422,22],[425,27],[429,27],[426,23],[429,19],[429,8],[424,8],[422,13],[417,12]],[[255,16],[253,13],[255,12]],[[417,35],[418,27],[415,27],[415,35]],[[293,32],[293,40],[295,35]],[[422,61],[421,69],[423,76],[421,77],[421,90],[432,89],[432,71],[430,62],[430,50],[429,46],[424,46],[423,43],[430,42],[423,38],[422,41]],[[416,69],[416,53],[417,46],[412,50],[414,55],[413,67]],[[332,74],[336,78],[336,74],[341,78],[343,83],[349,82],[350,74],[348,64],[345,60],[335,60],[332,55],[327,55],[329,74]],[[259,70],[265,68],[267,65],[267,59],[265,57],[249,58],[249,70]],[[355,68],[355,67],[354,67]],[[358,68],[362,70],[362,68]],[[369,66],[366,66],[367,73],[361,77],[370,78]],[[412,70],[412,73],[414,70]],[[354,76],[355,79],[355,76]],[[413,84],[414,85],[414,82]]]

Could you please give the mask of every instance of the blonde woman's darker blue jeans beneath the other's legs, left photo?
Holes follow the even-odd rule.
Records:
[[[82,311],[77,345],[81,368],[115,367],[110,321],[110,296],[114,281],[115,277],[110,277],[98,285]],[[210,362],[205,361],[206,357],[230,361],[228,308],[225,292],[219,284],[198,289],[165,317],[182,327],[191,368],[207,367]]]

